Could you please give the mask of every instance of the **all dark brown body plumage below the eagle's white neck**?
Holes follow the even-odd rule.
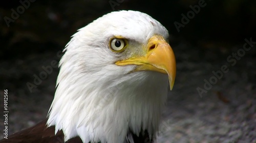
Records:
[[[12,134],[8,136],[8,139],[0,140],[0,143],[64,143],[62,130],[55,134],[55,127],[47,127],[46,121],[44,120],[33,127]],[[151,141],[147,131],[143,134],[140,133],[139,136],[130,131],[126,136],[125,143],[151,143]],[[82,140],[77,136],[67,140],[66,143],[82,143]]]

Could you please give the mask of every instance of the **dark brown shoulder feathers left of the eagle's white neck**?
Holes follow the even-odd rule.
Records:
[[[37,125],[20,132],[8,136],[8,139],[0,140],[0,143],[64,143],[64,135],[62,130],[54,134],[55,127],[46,126],[44,120]],[[74,137],[67,141],[67,143],[82,143],[80,137]]]

